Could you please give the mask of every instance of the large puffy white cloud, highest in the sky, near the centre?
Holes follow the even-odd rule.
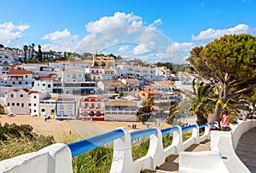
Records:
[[[113,26],[142,26],[142,17],[137,16],[133,13],[125,14],[121,12],[116,12],[113,16],[104,16],[100,20],[91,21],[85,27],[87,32],[102,32]]]

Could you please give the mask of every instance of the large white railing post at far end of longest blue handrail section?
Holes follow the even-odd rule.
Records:
[[[131,155],[131,134],[126,128],[124,136],[113,141],[113,160],[110,172],[136,172]]]

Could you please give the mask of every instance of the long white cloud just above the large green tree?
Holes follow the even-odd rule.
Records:
[[[245,24],[240,24],[235,27],[231,27],[229,29],[212,29],[209,28],[206,31],[202,31],[198,36],[192,35],[192,41],[200,41],[200,40],[208,40],[212,41],[213,39],[224,36],[225,34],[241,34],[241,33],[249,33],[250,28]]]

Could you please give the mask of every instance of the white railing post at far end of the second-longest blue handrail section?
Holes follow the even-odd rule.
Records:
[[[149,148],[147,153],[147,156],[150,156],[153,159],[153,169],[156,166],[164,164],[166,160],[162,141],[162,133],[159,129],[154,129],[157,130],[157,133],[150,136]]]

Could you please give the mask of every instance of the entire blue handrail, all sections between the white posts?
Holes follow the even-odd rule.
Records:
[[[216,122],[209,123],[209,125],[214,125],[214,124],[217,124],[217,123]],[[199,125],[199,128],[205,127],[207,125],[208,124],[201,124],[201,125]],[[185,126],[182,128],[182,131],[184,132],[187,130],[192,130],[196,127],[197,127],[196,124]],[[174,126],[172,128],[167,128],[167,129],[160,130],[160,131],[161,131],[162,135],[166,135],[168,133],[172,133],[173,131],[177,131],[177,130],[178,130],[178,127]],[[141,137],[150,136],[150,135],[153,135],[156,133],[157,133],[157,130],[155,128],[148,129],[148,130],[131,131],[131,133],[130,133],[131,141],[136,140]],[[72,157],[74,157],[81,153],[88,152],[96,147],[100,147],[104,144],[107,144],[110,141],[119,139],[120,137],[123,137],[124,135],[125,134],[124,134],[123,130],[117,129],[117,130],[109,131],[109,132],[104,133],[99,136],[93,136],[93,137],[90,137],[90,138],[82,140],[82,141],[76,141],[76,142],[67,144],[67,146],[71,150]]]

